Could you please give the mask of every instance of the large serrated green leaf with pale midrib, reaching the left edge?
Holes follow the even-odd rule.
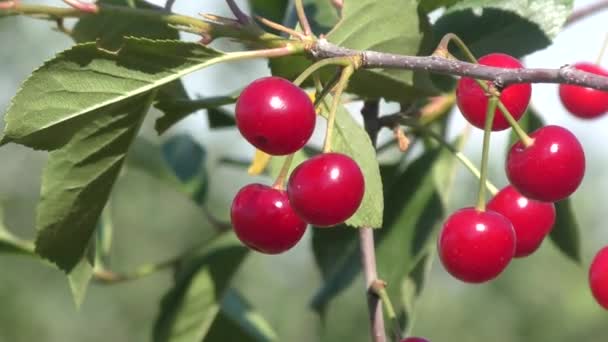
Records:
[[[52,150],[72,139],[97,110],[227,59],[200,44],[125,38],[117,53],[76,45],[25,81],[5,115],[1,143]]]

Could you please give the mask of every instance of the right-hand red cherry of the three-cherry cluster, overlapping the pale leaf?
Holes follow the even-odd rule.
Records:
[[[357,163],[340,153],[323,153],[298,165],[287,183],[294,210],[306,222],[328,227],[346,221],[365,192]]]

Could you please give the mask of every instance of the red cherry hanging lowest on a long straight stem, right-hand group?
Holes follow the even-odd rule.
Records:
[[[483,283],[496,278],[515,254],[515,232],[503,215],[475,208],[454,212],[437,241],[439,257],[455,278]]]

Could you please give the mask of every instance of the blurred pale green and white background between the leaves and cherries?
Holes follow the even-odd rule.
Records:
[[[222,1],[195,5],[183,2],[177,10],[226,13]],[[577,6],[589,3],[579,1]],[[179,7],[183,6],[183,7]],[[198,7],[197,7],[198,6]],[[215,10],[210,10],[216,7]],[[593,59],[602,34],[580,39],[584,32],[605,31],[606,16],[591,18],[569,28],[556,44],[527,59],[530,66],[555,67],[571,59]],[[603,27],[603,29],[598,29]],[[19,84],[54,53],[71,45],[52,25],[24,18],[0,20],[0,108],[4,111]],[[563,37],[563,38],[562,38]],[[569,51],[569,54],[562,53]],[[268,70],[263,62],[214,67],[187,78],[191,94],[221,95],[237,89]],[[538,92],[536,92],[538,90]],[[608,313],[592,300],[587,287],[587,265],[593,254],[608,244],[605,203],[605,132],[608,119],[593,124],[570,119],[557,103],[556,87],[535,86],[534,104],[546,121],[567,125],[579,136],[588,156],[588,173],[573,203],[582,228],[585,264],[577,266],[546,242],[532,257],[515,260],[496,281],[466,285],[448,276],[434,262],[433,271],[418,303],[414,335],[443,341],[606,341]],[[357,106],[353,106],[357,108]],[[155,115],[156,116],[156,115]],[[158,143],[148,120],[142,136]],[[454,119],[454,131],[462,126]],[[224,155],[250,158],[252,150],[234,130],[209,132],[204,116],[194,115],[172,129],[192,134],[207,151],[209,207],[227,220],[228,206],[238,188],[252,182],[242,171],[221,167]],[[494,139],[491,179],[506,184],[502,172],[505,134]],[[478,160],[480,134],[475,132],[466,153]],[[23,237],[34,236],[34,212],[39,196],[45,154],[17,145],[0,149],[0,201],[7,226]],[[268,182],[267,179],[261,179]],[[472,203],[476,183],[462,169],[453,191],[452,209]],[[189,199],[159,184],[150,175],[127,167],[112,195],[115,242],[112,268],[129,271],[162,261],[209,238],[212,228]],[[280,256],[252,254],[242,265],[234,285],[266,317],[280,341],[320,340],[322,324],[309,302],[320,285],[310,253],[309,234],[290,252]],[[395,260],[398,267],[399,261]],[[162,295],[172,275],[163,271],[141,280],[117,285],[93,283],[80,311],[75,309],[65,276],[27,257],[0,256],[0,341],[148,341]],[[328,324],[340,327],[327,341],[368,341],[366,304],[361,279],[348,289],[348,300],[327,313]],[[356,312],[357,315],[341,314]],[[364,333],[361,333],[364,331]]]

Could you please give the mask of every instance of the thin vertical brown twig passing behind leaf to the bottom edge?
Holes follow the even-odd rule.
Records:
[[[365,101],[361,114],[365,122],[365,130],[376,147],[376,138],[380,130],[379,121],[379,101]],[[382,302],[373,291],[372,286],[378,280],[376,270],[376,249],[374,246],[373,228],[359,229],[359,242],[361,249],[361,265],[365,276],[365,290],[367,294],[367,304],[369,308],[369,320],[373,342],[386,342],[386,332],[384,330],[384,316],[382,314]]]

